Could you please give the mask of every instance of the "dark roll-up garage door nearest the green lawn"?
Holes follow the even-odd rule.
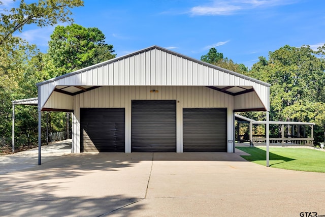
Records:
[[[226,108],[183,108],[183,150],[226,151]]]

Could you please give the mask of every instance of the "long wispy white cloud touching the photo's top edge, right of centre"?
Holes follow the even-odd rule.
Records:
[[[189,14],[192,16],[231,15],[241,10],[289,5],[295,3],[295,0],[214,0],[212,2],[213,3],[211,5],[196,6],[191,8]]]

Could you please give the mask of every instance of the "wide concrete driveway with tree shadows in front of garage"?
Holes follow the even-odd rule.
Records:
[[[325,215],[324,173],[267,168],[236,153],[56,152],[44,159],[0,174],[1,216]]]

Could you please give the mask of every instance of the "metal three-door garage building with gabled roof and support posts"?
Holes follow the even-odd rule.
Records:
[[[266,111],[268,132],[270,84],[158,46],[37,86],[39,146],[42,111],[73,112],[75,153],[235,152],[239,111]]]

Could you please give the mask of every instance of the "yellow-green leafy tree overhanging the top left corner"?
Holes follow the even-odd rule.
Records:
[[[15,0],[14,0],[15,1]],[[0,2],[0,5],[2,3]],[[22,76],[21,66],[36,49],[19,37],[13,36],[16,31],[22,32],[25,25],[37,24],[40,27],[55,25],[57,22],[73,21],[70,8],[83,5],[81,0],[40,0],[38,3],[26,4],[23,0],[17,8],[3,9],[0,14],[0,80],[1,85],[8,88],[6,83],[17,84]]]

